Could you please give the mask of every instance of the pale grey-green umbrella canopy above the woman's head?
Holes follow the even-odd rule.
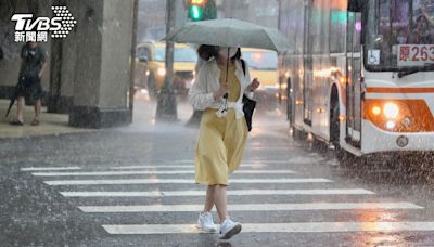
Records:
[[[278,29],[234,18],[186,23],[167,34],[163,40],[219,47],[260,48],[278,52],[291,49],[288,39]]]

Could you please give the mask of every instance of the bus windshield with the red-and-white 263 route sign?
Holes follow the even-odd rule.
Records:
[[[369,0],[365,64],[368,70],[434,69],[434,0]]]

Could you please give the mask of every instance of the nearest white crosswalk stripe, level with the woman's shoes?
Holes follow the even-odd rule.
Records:
[[[108,234],[201,233],[191,224],[106,224]],[[431,232],[434,222],[303,222],[243,224],[242,233]]]

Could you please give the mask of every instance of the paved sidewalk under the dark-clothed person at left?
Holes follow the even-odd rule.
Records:
[[[25,107],[24,126],[12,126],[9,123],[9,121],[16,116],[16,103],[12,107],[9,117],[4,118],[9,102],[9,100],[0,100],[0,139],[94,131],[92,129],[69,127],[69,116],[67,114],[48,114],[46,107],[42,107],[41,109],[39,126],[30,126],[35,115],[33,106]]]

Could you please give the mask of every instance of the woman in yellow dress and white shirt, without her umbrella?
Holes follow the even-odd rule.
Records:
[[[195,148],[195,181],[207,185],[197,227],[205,232],[217,231],[210,213],[215,205],[220,238],[229,239],[241,232],[241,224],[232,221],[227,212],[226,192],[228,174],[239,168],[248,133],[242,98],[245,94],[252,99],[259,81],[255,78],[251,82],[240,48],[203,44],[197,53],[205,63],[199,69],[189,96],[193,108],[203,110]]]

